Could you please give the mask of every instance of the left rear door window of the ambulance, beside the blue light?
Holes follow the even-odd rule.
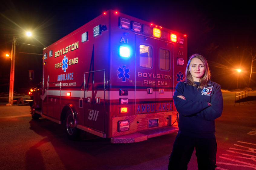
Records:
[[[145,68],[152,68],[152,47],[146,45],[139,46],[139,65]]]

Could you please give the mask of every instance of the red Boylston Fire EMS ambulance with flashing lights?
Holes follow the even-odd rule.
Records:
[[[65,124],[112,143],[177,132],[173,104],[187,63],[185,34],[108,10],[43,50],[33,119]]]

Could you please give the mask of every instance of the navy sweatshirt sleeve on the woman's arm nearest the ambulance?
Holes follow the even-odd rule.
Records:
[[[173,101],[180,115],[182,116],[193,115],[209,107],[208,103],[204,101],[183,100],[177,97],[177,96],[184,96],[183,92],[184,92],[184,84],[179,82],[175,87]]]

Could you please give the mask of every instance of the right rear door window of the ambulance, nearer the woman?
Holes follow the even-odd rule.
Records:
[[[161,70],[170,70],[170,65],[171,65],[170,51],[165,49],[160,49],[159,68]]]

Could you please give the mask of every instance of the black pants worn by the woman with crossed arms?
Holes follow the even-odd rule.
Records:
[[[216,164],[216,139],[205,139],[177,134],[169,158],[168,170],[186,170],[195,148],[199,170],[214,170]]]

